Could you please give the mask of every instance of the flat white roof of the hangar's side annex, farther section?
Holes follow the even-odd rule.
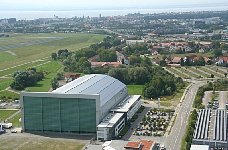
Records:
[[[111,109],[111,111],[115,112],[128,112],[130,107],[140,98],[140,95],[131,95],[125,98],[122,102],[120,102],[116,107]]]

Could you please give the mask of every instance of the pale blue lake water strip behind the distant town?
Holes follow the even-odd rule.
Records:
[[[17,18],[21,19],[37,19],[37,18],[52,18],[54,15],[60,18],[71,17],[98,17],[102,16],[117,16],[126,15],[129,13],[163,13],[163,12],[191,12],[191,11],[224,11],[228,10],[228,6],[218,7],[188,7],[188,8],[166,8],[166,9],[120,9],[120,10],[73,10],[73,11],[0,11],[0,18]]]

